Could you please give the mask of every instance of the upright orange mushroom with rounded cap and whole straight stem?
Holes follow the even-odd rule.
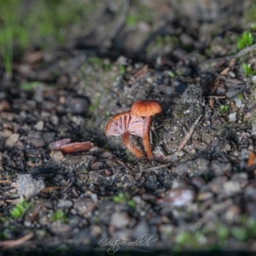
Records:
[[[154,160],[154,156],[149,143],[149,129],[153,115],[162,111],[161,105],[156,101],[139,100],[136,101],[131,108],[131,114],[134,116],[145,116],[143,125],[143,145],[145,152],[150,161]]]

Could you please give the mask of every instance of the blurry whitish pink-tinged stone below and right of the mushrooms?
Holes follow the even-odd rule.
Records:
[[[167,191],[167,202],[171,202],[173,206],[181,207],[193,202],[195,192],[189,188],[175,188]]]

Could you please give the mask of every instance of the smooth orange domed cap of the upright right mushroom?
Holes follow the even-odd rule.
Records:
[[[161,111],[161,105],[158,102],[151,100],[136,101],[131,108],[131,113],[134,116],[154,116]]]

